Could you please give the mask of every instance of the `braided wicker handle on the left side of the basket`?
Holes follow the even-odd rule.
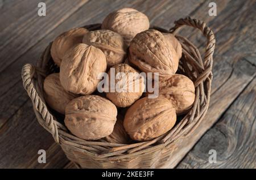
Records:
[[[23,86],[26,89],[28,96],[30,96],[34,108],[42,116],[42,118],[38,118],[40,125],[46,128],[46,130],[52,134],[56,143],[59,143],[59,135],[56,122],[54,121],[51,113],[48,112],[46,104],[41,100],[38,92],[36,92],[36,88],[33,83],[33,78],[37,71],[38,70],[36,70],[36,67],[31,64],[26,64],[22,67]]]

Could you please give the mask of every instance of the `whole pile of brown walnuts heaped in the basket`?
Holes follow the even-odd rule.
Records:
[[[179,41],[149,27],[142,12],[123,8],[106,16],[101,30],[75,28],[53,41],[51,56],[60,72],[44,80],[44,97],[52,109],[65,114],[65,126],[73,135],[121,144],[151,140],[171,130],[176,116],[192,107],[193,82],[175,74],[182,54]],[[143,78],[139,92],[102,95],[97,76],[110,67],[115,74],[158,72],[159,96],[143,94]]]

